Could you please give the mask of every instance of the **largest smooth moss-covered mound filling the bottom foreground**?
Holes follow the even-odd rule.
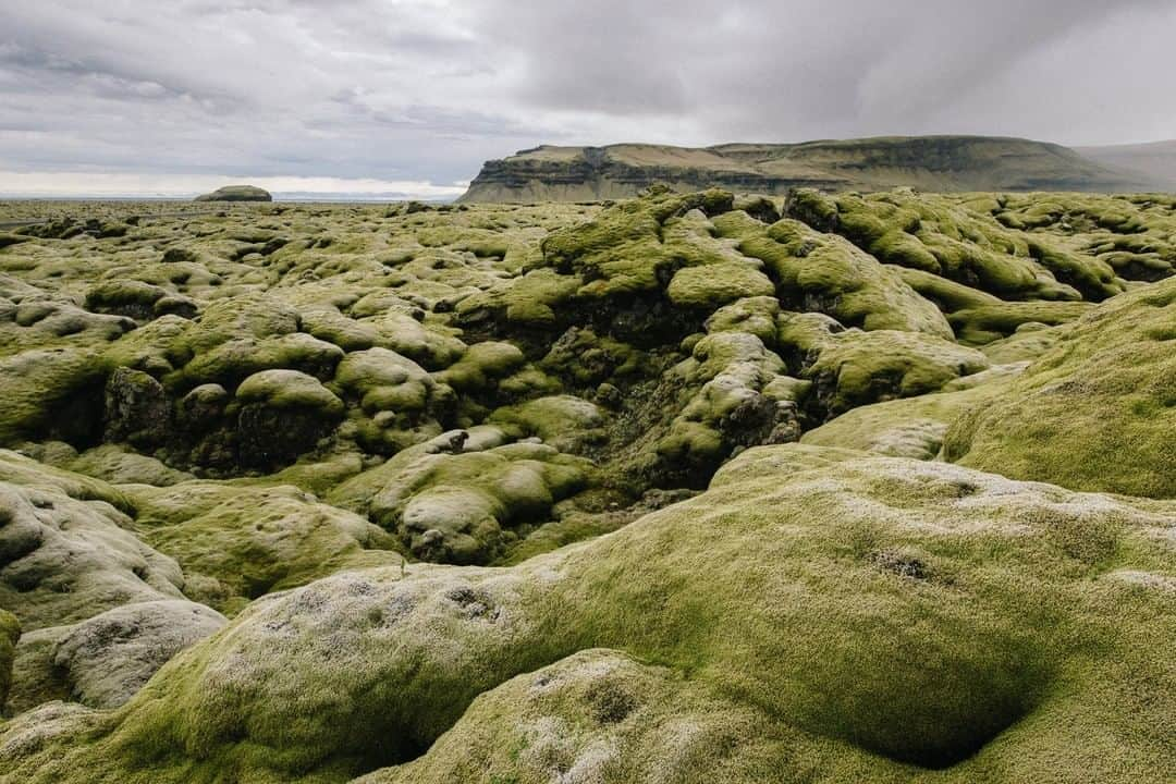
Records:
[[[453,780],[487,737],[519,753],[474,780],[537,780],[560,759],[601,780],[649,765],[794,780],[814,764],[895,782],[1162,778],[1170,672],[1162,644],[1134,641],[1176,635],[1156,538],[1174,511],[848,450],[749,450],[704,495],[510,570],[352,572],[276,596],[122,710],[26,713],[0,749],[31,782],[387,765],[372,780]],[[684,741],[639,719],[679,711],[728,721]]]

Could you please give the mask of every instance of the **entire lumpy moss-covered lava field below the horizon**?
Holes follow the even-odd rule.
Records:
[[[1171,199],[62,209],[0,782],[1176,766]]]

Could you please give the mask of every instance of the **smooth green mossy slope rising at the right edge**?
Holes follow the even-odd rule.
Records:
[[[951,428],[948,456],[1075,489],[1176,496],[1174,314],[1171,281],[1091,310],[1007,395]]]

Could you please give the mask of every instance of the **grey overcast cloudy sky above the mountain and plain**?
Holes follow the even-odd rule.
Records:
[[[539,143],[1176,139],[1172,0],[0,0],[0,194],[446,197]]]

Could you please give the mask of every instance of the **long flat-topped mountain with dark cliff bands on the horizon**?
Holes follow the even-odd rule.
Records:
[[[526,149],[487,161],[460,201],[594,201],[664,182],[679,190],[719,186],[782,194],[827,190],[928,192],[1154,189],[1149,177],[1060,145],[995,136],[881,136],[799,145],[662,145]]]

